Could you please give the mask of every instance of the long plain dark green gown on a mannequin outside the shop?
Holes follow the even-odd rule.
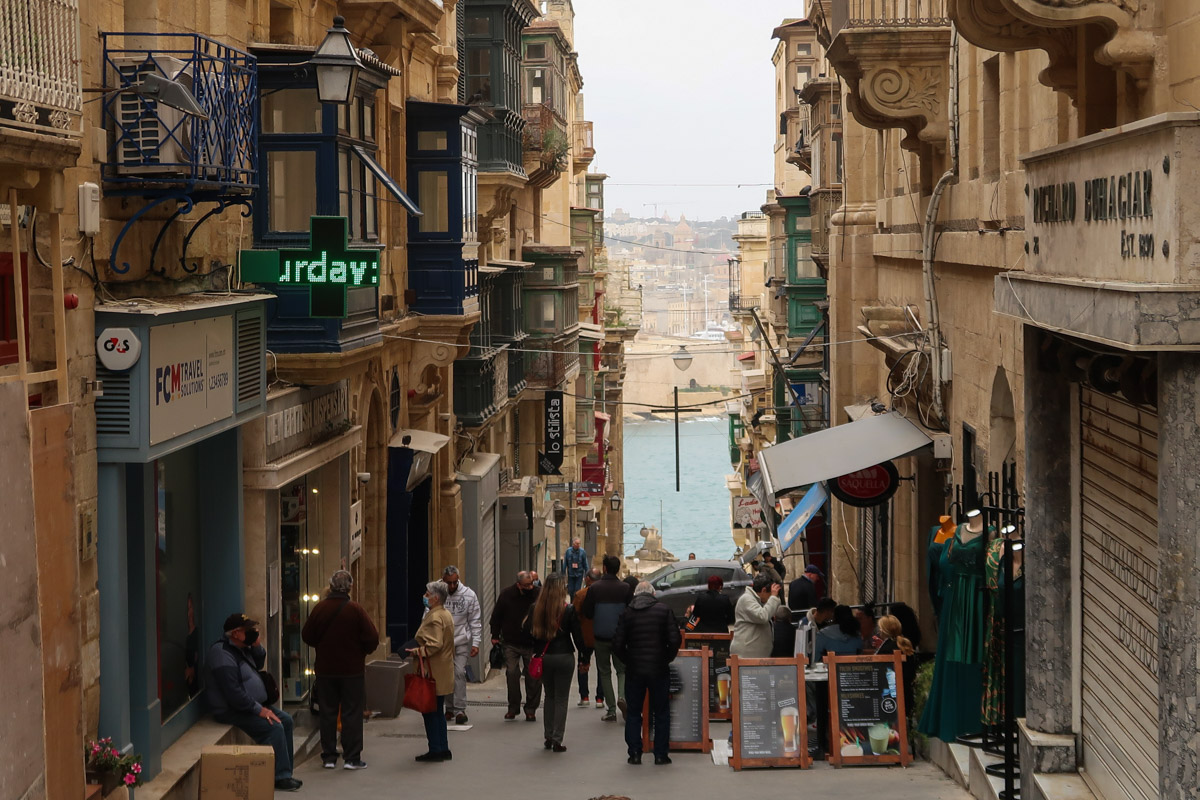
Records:
[[[954,741],[958,736],[979,733],[983,698],[983,557],[984,536],[964,543],[959,534],[941,547],[937,570],[942,588],[937,654],[934,681],[917,729],[926,736]],[[972,631],[972,626],[974,630]],[[970,657],[978,644],[974,661]]]

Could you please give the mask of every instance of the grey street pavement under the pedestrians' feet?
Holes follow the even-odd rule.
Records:
[[[304,781],[296,798],[440,796],[446,792],[468,800],[508,800],[553,796],[588,800],[601,795],[631,800],[694,800],[738,798],[756,793],[803,790],[805,796],[881,798],[888,800],[972,800],[941,770],[926,762],[908,768],[858,766],[833,769],[817,762],[812,769],[754,769],[733,771],[718,766],[710,754],[672,752],[672,764],[655,766],[653,754],[641,766],[625,763],[624,724],[601,722],[602,711],[578,708],[572,692],[566,717],[565,753],[542,748],[541,709],[538,721],[504,718],[506,690],[503,674],[467,690],[469,730],[450,730],[454,760],[420,764],[413,760],[427,750],[421,716],[403,710],[394,720],[377,717],[366,724],[361,771],[322,768],[319,758],[301,764],[295,776]],[[727,722],[714,722],[712,735],[728,736]],[[553,794],[547,794],[551,789]],[[781,796],[775,794],[775,796]]]

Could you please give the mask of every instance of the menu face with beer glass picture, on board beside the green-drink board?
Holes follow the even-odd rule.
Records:
[[[796,664],[738,668],[742,758],[799,756],[803,709]]]

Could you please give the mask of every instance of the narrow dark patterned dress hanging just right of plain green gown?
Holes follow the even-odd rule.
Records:
[[[984,566],[985,581],[991,603],[988,609],[988,652],[985,679],[983,687],[984,724],[1001,724],[1004,721],[1004,575],[1000,560],[1004,540],[997,539],[988,546],[988,560]],[[1015,626],[1024,628],[1025,622],[1025,565],[1013,576],[1013,616]],[[1025,633],[1014,632],[1013,667],[1014,692],[1013,716],[1025,716]]]

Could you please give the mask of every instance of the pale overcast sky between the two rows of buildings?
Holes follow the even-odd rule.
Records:
[[[658,204],[700,219],[757,211],[779,126],[770,32],[804,14],[802,0],[574,2],[606,209],[650,216]]]

